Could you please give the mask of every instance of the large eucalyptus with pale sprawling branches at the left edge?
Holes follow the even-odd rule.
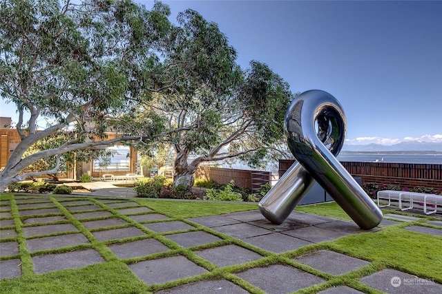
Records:
[[[159,2],[146,10],[130,0],[1,1],[0,96],[17,107],[21,143],[0,171],[0,191],[57,172],[59,155],[68,151],[162,134],[161,125],[112,140],[104,132],[155,83],[150,73],[170,33],[169,14]],[[48,124],[38,129],[41,118]],[[39,140],[67,131],[75,136],[25,155]],[[53,167],[22,172],[48,156],[56,158]]]

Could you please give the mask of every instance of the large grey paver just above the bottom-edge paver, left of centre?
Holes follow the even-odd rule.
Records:
[[[135,264],[129,264],[128,267],[140,280],[148,285],[162,284],[207,272],[206,269],[194,264],[181,255],[137,262]]]

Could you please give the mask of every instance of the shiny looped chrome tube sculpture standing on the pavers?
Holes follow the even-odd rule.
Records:
[[[335,157],[346,125],[343,108],[331,94],[311,90],[294,99],[285,114],[285,134],[297,161],[260,201],[265,218],[284,222],[316,180],[361,229],[381,222],[381,209]]]

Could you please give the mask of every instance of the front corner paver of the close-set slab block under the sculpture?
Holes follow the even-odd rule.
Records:
[[[274,253],[287,252],[298,249],[302,246],[314,244],[312,242],[300,240],[289,235],[283,235],[282,233],[259,235],[256,237],[243,239],[243,241],[253,246],[257,246],[260,249],[264,249]]]

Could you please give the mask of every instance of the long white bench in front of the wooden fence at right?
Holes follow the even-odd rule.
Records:
[[[380,199],[387,199],[387,205],[380,205]],[[414,203],[419,203],[423,206],[423,213],[429,215],[437,212],[437,204],[442,204],[442,196],[428,193],[417,193],[407,191],[382,190],[377,194],[378,207],[388,207],[392,204],[392,200],[398,201],[398,206],[401,211],[414,208]],[[408,206],[403,207],[403,204],[408,203]],[[427,211],[427,206],[434,207],[434,210]]]

